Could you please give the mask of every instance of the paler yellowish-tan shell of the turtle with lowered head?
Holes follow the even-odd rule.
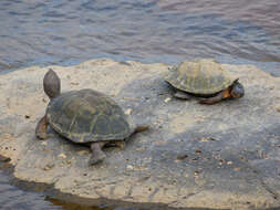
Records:
[[[236,80],[226,74],[214,60],[183,62],[165,75],[172,86],[194,94],[215,94],[229,87]]]

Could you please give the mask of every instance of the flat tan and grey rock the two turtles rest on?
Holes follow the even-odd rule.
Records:
[[[90,148],[52,130],[48,140],[34,136],[49,101],[42,88],[48,69],[0,75],[0,155],[11,158],[17,178],[84,198],[174,208],[280,207],[280,78],[225,64],[246,95],[206,106],[172,97],[160,75],[165,64],[93,60],[51,67],[62,92],[106,93],[151,130],[132,136],[124,150],[105,149],[106,160],[89,167]]]

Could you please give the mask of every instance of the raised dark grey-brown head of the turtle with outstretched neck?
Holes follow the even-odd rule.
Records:
[[[50,99],[60,95],[60,78],[58,74],[49,69],[43,80],[44,93],[50,97]]]

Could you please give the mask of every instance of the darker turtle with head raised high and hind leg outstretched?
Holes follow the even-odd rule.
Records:
[[[60,93],[60,78],[52,70],[45,74],[43,87],[50,97],[45,115],[35,128],[35,135],[45,139],[50,125],[61,136],[79,144],[89,144],[92,156],[90,165],[101,162],[106,155],[102,148],[113,144],[123,148],[124,139],[148,126],[132,128],[122,108],[105,94],[93,90]]]

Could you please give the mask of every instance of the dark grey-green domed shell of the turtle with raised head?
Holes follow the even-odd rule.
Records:
[[[124,139],[131,128],[122,108],[93,90],[63,93],[48,105],[51,127],[74,143]]]

